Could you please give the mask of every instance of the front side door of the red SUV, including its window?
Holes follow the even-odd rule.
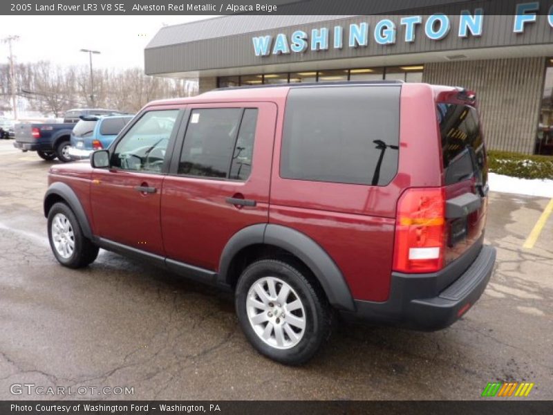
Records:
[[[111,168],[94,169],[91,206],[97,236],[164,255],[160,199],[178,113],[144,112],[114,143]]]

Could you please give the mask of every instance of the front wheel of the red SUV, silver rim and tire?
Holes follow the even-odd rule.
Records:
[[[59,264],[68,268],[83,268],[98,256],[98,247],[84,237],[77,217],[65,203],[55,203],[48,212],[48,241]]]

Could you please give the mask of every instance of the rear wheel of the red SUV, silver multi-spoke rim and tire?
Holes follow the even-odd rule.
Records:
[[[307,362],[330,337],[334,313],[308,273],[299,264],[263,259],[248,266],[236,286],[236,313],[247,340],[259,353],[285,365]],[[285,287],[288,295],[279,298]]]

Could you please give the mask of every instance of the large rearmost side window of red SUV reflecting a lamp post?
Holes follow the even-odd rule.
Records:
[[[400,86],[291,89],[281,176],[387,185],[397,174]]]

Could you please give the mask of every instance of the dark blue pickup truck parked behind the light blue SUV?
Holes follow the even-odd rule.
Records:
[[[66,122],[47,124],[16,124],[14,147],[22,151],[37,151],[44,160],[58,158],[64,163],[71,161],[69,147],[71,147],[71,131],[75,127],[73,113],[77,111],[93,113],[94,111],[111,111],[96,109],[70,110],[65,116]],[[119,112],[119,111],[116,111]],[[78,118],[77,118],[78,119]]]

